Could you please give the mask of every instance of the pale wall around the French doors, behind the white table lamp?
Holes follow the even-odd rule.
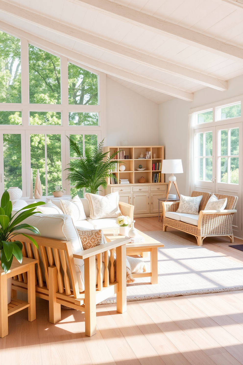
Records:
[[[159,145],[165,146],[165,158],[181,158],[183,174],[178,174],[179,192],[185,194],[187,169],[187,127],[189,109],[204,106],[216,101],[243,95],[243,75],[228,81],[227,91],[204,88],[194,93],[194,101],[171,99],[159,105]],[[166,175],[165,181],[168,182]],[[173,188],[172,188],[173,189]],[[172,191],[172,193],[175,190]]]

